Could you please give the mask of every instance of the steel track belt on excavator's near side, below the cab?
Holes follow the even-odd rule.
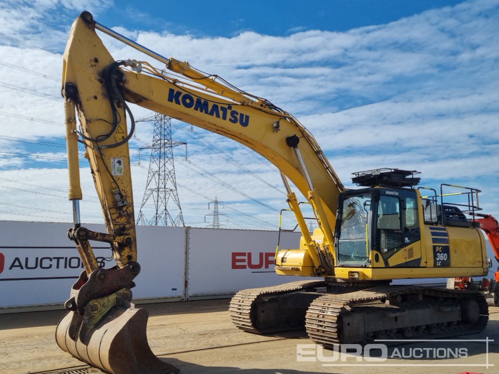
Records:
[[[446,290],[437,287],[414,286],[379,286],[362,291],[343,294],[326,294],[315,299],[306,314],[305,327],[308,336],[318,344],[332,347],[341,344],[341,316],[354,307],[372,303],[382,299],[390,299],[396,295],[422,294],[426,297],[443,299],[473,298],[479,305],[480,318],[475,324],[457,325],[455,328],[436,331],[425,335],[425,339],[450,338],[473,334],[482,331],[489,320],[487,301],[479,292]],[[365,313],[369,313],[368,309]],[[389,339],[394,337],[389,336]],[[400,343],[397,343],[397,345]]]

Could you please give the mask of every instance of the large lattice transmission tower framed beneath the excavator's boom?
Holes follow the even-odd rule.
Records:
[[[154,121],[154,135],[150,145],[140,148],[140,150],[150,149],[151,158],[137,224],[184,226],[184,216],[175,179],[173,149],[186,143],[172,140],[170,117],[155,114],[140,120],[140,122],[145,121]],[[154,211],[154,213],[148,219],[146,214],[150,211]]]

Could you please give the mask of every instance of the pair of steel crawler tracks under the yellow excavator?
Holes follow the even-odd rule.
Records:
[[[304,326],[310,339],[325,347],[386,339],[452,338],[481,332],[489,319],[487,301],[479,292],[423,286],[377,286],[351,292],[336,287],[337,293],[315,292],[324,286],[323,282],[299,281],[242,290],[231,301],[231,318],[238,328],[256,334],[299,330],[304,303],[292,319],[282,314],[288,305],[308,295],[311,303],[305,308]],[[286,307],[280,305],[283,302]],[[352,328],[347,329],[350,323]],[[373,328],[376,324],[379,329]],[[371,326],[361,330],[359,325]]]

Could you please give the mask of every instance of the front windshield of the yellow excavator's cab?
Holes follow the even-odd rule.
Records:
[[[371,194],[345,197],[341,211],[337,259],[339,264],[364,264],[368,260]]]

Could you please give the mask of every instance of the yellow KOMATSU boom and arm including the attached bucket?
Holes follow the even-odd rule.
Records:
[[[162,62],[165,68],[137,60],[115,61],[96,29]],[[313,275],[334,275],[335,212],[344,187],[317,142],[289,113],[217,75],[138,45],[95,22],[89,12],[83,12],[71,28],[63,58],[62,94],[74,219],[68,236],[85,270],[72,287],[65,304],[68,313],[57,327],[61,349],[109,373],[178,372],[153,355],[146,338],[147,312],[130,303],[140,266],[128,148],[135,123],[128,103],[224,135],[274,164],[300,225]],[[80,223],[78,142],[85,147],[106,233]],[[321,243],[308,232],[289,182],[311,203],[323,233]],[[110,244],[115,267],[99,268],[91,240]]]

